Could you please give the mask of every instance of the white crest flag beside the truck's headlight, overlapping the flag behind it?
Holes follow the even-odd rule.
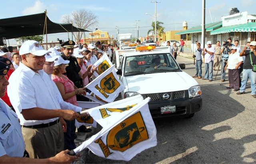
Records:
[[[114,67],[115,64],[85,86],[106,102],[113,102],[125,88],[118,79]]]

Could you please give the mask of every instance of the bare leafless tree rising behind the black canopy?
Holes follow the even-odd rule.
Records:
[[[93,29],[98,25],[98,16],[90,10],[80,9],[64,16],[63,23],[72,23],[75,27],[82,29]],[[88,30],[89,31],[89,30]],[[74,32],[75,41],[80,45],[80,40],[84,32]]]

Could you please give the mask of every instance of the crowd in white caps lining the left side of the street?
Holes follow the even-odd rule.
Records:
[[[22,44],[19,53],[0,50],[0,163],[70,163],[76,148],[75,119],[89,101],[85,86],[97,69],[94,63],[113,47],[74,41],[44,50],[38,41]],[[85,126],[78,132],[90,132]],[[30,158],[22,158],[22,157]],[[38,159],[36,159],[38,158]]]

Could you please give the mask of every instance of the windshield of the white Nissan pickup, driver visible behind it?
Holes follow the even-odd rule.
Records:
[[[126,57],[124,75],[181,71],[177,62],[168,53]]]

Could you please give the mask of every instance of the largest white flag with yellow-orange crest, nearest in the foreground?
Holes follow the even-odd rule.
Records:
[[[88,147],[97,156],[128,161],[143,150],[156,146],[156,127],[148,109],[149,101],[150,98],[146,98],[127,111],[109,116],[111,123],[74,152]],[[94,117],[93,113],[90,114]]]

